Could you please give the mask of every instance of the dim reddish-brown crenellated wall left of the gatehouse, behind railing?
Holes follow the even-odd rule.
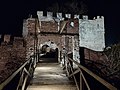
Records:
[[[8,37],[7,37],[8,36]],[[22,37],[4,36],[0,45],[0,83],[18,69],[26,61],[26,47]]]

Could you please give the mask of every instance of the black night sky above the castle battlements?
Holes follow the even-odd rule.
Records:
[[[36,16],[37,11],[55,2],[64,3],[68,0],[4,0],[0,2],[0,33],[15,36],[22,35],[23,19],[29,14]],[[80,0],[78,0],[80,1]],[[88,15],[105,17],[106,44],[120,42],[120,3],[116,0],[84,0],[88,7]]]

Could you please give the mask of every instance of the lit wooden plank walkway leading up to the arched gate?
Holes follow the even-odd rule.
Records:
[[[38,63],[27,90],[77,90],[58,63]]]

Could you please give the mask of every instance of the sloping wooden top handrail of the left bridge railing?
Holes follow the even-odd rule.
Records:
[[[30,62],[31,58],[32,57],[30,57],[19,69],[0,84],[0,90],[2,90]]]

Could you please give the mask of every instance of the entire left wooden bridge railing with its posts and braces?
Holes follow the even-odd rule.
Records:
[[[27,80],[29,77],[32,77],[34,68],[36,67],[36,60],[33,57],[34,56],[31,56],[19,69],[1,83],[0,90],[8,90],[8,88],[11,88],[12,90],[25,90]],[[13,80],[15,77],[19,80]],[[12,85],[13,82],[16,83],[15,86]]]

